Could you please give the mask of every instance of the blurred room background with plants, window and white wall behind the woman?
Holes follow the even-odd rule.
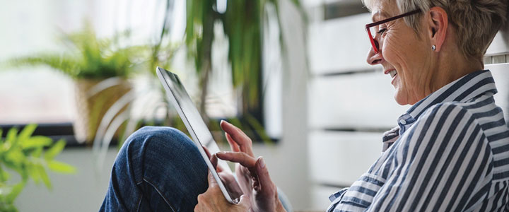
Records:
[[[365,64],[371,18],[360,0],[0,5],[0,211],[98,211],[129,134],[185,131],[156,66],[180,76],[221,148],[221,119],[247,131],[296,211],[324,211],[408,108]],[[484,59],[503,110],[506,35]]]

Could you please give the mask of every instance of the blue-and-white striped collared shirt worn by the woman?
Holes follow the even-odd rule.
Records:
[[[417,102],[327,211],[509,211],[509,130],[495,93],[491,72],[476,71]]]

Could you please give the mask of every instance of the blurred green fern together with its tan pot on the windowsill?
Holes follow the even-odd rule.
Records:
[[[78,110],[74,134],[79,142],[91,142],[108,108],[131,90],[127,78],[136,69],[134,59],[144,52],[141,46],[120,46],[119,40],[126,35],[128,33],[98,38],[86,22],[83,30],[64,35],[62,42],[66,52],[17,57],[11,59],[10,64],[50,66],[73,78]]]

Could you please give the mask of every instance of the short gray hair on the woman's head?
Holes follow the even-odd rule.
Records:
[[[399,11],[406,13],[418,8],[429,11],[440,6],[456,28],[457,45],[467,58],[482,59],[498,30],[507,20],[508,0],[362,0],[371,8],[372,1],[396,1]],[[396,15],[396,14],[394,14]],[[422,15],[406,16],[406,25],[419,32]]]

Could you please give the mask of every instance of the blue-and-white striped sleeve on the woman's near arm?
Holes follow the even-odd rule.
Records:
[[[486,198],[493,155],[471,112],[431,107],[395,145],[390,175],[367,211],[464,211]]]

